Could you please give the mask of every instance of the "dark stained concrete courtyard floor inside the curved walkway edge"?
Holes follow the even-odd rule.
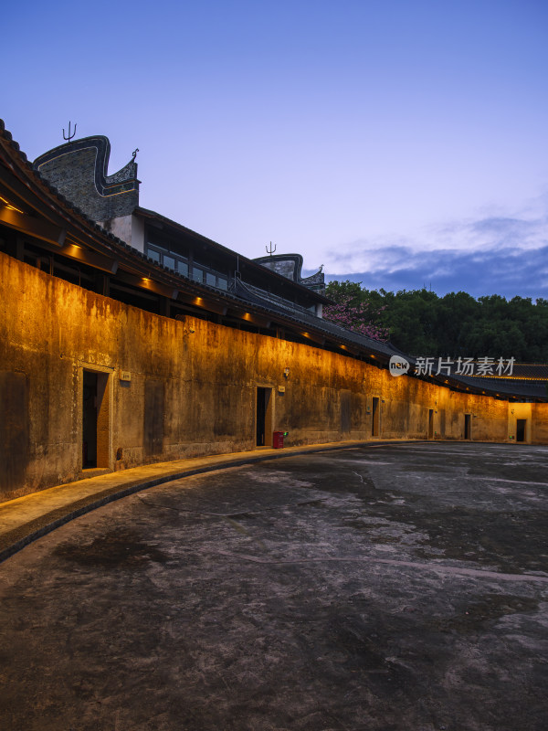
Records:
[[[82,515],[0,565],[0,728],[545,731],[547,468],[370,445]]]

